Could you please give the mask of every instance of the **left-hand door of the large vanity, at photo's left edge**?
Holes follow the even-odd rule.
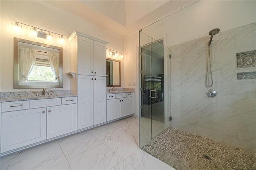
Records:
[[[46,140],[46,108],[2,113],[1,152]]]

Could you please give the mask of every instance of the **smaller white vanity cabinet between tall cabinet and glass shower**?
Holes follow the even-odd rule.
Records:
[[[134,93],[108,94],[107,99],[107,121],[134,113]]]

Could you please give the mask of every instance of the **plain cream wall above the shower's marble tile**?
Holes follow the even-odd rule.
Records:
[[[229,30],[256,21],[256,1],[198,1],[156,22],[142,32],[154,39],[167,34],[167,46]]]

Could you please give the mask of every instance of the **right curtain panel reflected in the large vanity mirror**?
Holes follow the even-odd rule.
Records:
[[[49,63],[52,68],[52,72],[56,77],[56,81],[60,80],[60,55],[58,53],[48,52]]]

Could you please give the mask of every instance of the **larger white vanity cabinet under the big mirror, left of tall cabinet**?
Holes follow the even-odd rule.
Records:
[[[3,102],[1,108],[1,153],[77,130],[76,97]]]

